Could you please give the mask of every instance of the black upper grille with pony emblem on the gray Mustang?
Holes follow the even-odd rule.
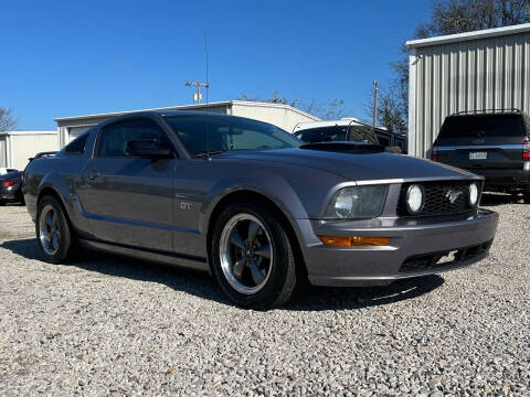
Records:
[[[411,184],[422,185],[425,191],[425,205],[414,216],[451,215],[470,212],[469,181],[436,181],[422,183],[404,183],[401,186],[400,201],[398,204],[399,216],[411,216],[406,208],[406,192]],[[479,187],[480,190],[480,187]],[[456,193],[457,197],[452,203],[449,195]]]

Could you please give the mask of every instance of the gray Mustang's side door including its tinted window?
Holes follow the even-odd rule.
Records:
[[[94,238],[134,247],[172,250],[176,155],[131,157],[127,142],[156,140],[171,149],[163,129],[150,118],[118,121],[98,133],[80,192]]]

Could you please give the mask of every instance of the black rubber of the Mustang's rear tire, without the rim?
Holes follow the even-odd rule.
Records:
[[[60,230],[61,247],[54,255],[46,254],[46,251],[42,247],[42,243],[40,239],[41,214],[42,214],[42,210],[49,204],[53,206],[55,213],[59,216],[59,222],[61,223],[61,230]],[[68,221],[66,219],[63,207],[52,196],[45,196],[39,202],[39,206],[36,210],[35,235],[36,235],[39,249],[41,251],[41,256],[45,261],[50,264],[63,264],[68,259],[71,247],[72,247],[72,235],[71,235],[70,224],[68,224]]]

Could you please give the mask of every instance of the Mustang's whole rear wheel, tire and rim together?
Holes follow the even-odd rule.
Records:
[[[39,202],[35,234],[42,258],[45,261],[65,264],[72,258],[75,239],[70,222],[61,204],[52,196],[44,196]]]

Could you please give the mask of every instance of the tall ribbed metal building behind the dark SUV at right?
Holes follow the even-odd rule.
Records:
[[[446,116],[530,112],[530,23],[406,42],[409,154],[426,157]]]

